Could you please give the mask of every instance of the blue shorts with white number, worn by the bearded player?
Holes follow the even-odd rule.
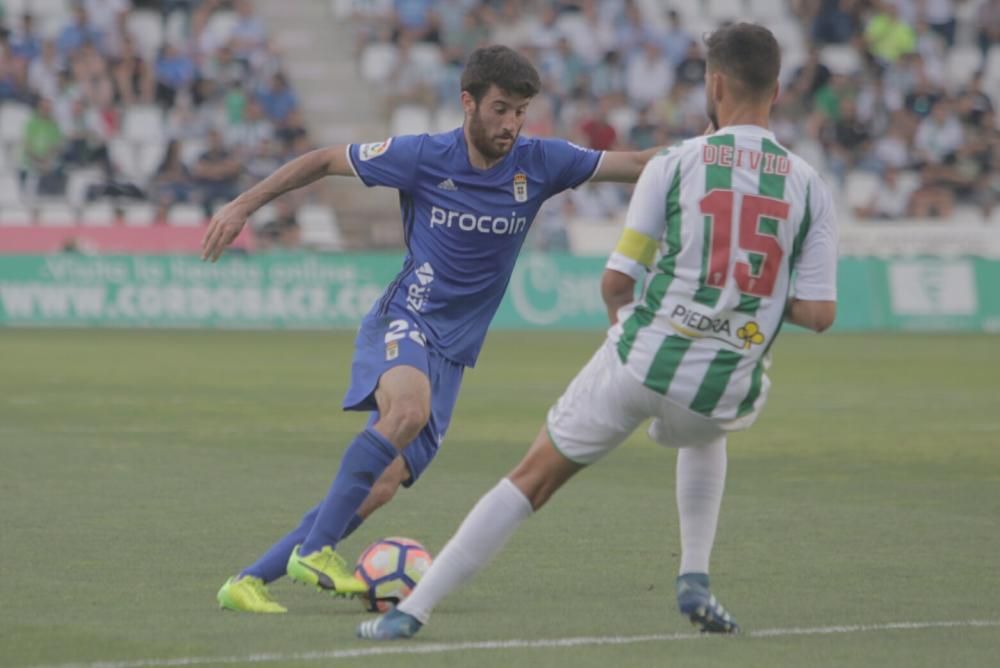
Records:
[[[375,388],[382,374],[400,365],[419,369],[431,381],[430,419],[402,452],[410,469],[410,479],[403,485],[409,487],[434,459],[444,440],[465,366],[442,357],[428,346],[409,315],[395,310],[387,315],[370,314],[362,321],[354,342],[351,386],[344,396],[344,410],[372,411],[368,426],[375,424],[379,418]]]

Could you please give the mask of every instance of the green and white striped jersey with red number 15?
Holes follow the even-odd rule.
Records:
[[[725,127],[646,165],[607,267],[645,279],[609,336],[647,387],[748,426],[795,272],[800,299],[835,300],[837,229],[816,171],[768,130]]]

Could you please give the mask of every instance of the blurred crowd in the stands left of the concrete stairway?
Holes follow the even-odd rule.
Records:
[[[200,224],[311,146],[249,0],[11,4],[0,0],[0,211],[147,202],[152,222]],[[295,245],[305,196],[269,209],[259,240]]]

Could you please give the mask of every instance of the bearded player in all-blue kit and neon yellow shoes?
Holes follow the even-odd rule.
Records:
[[[476,362],[538,209],[587,180],[634,182],[657,150],[521,137],[540,81],[504,46],[477,49],[461,87],[461,128],[312,151],[227,204],[206,230],[202,259],[215,261],[262,205],[336,174],[399,191],[407,248],[355,344],[343,407],[370,411],[367,426],[344,451],[326,498],[222,586],[223,608],[286,612],[266,587],[286,573],[337,596],[364,593],[337,543],[437,454],[462,374]]]

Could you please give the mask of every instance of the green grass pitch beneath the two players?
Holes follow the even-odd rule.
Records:
[[[344,544],[440,549],[517,461],[599,334],[494,333],[421,484]],[[325,492],[362,417],[351,336],[0,331],[0,666],[370,647],[215,591]],[[786,335],[730,445],[713,582],[746,629],[1000,619],[1000,339]],[[633,437],[446,600],[420,643],[687,633],[673,455]],[[400,502],[402,501],[402,502]],[[363,657],[294,665],[993,666],[1000,627]],[[274,661],[262,665],[279,665]]]

